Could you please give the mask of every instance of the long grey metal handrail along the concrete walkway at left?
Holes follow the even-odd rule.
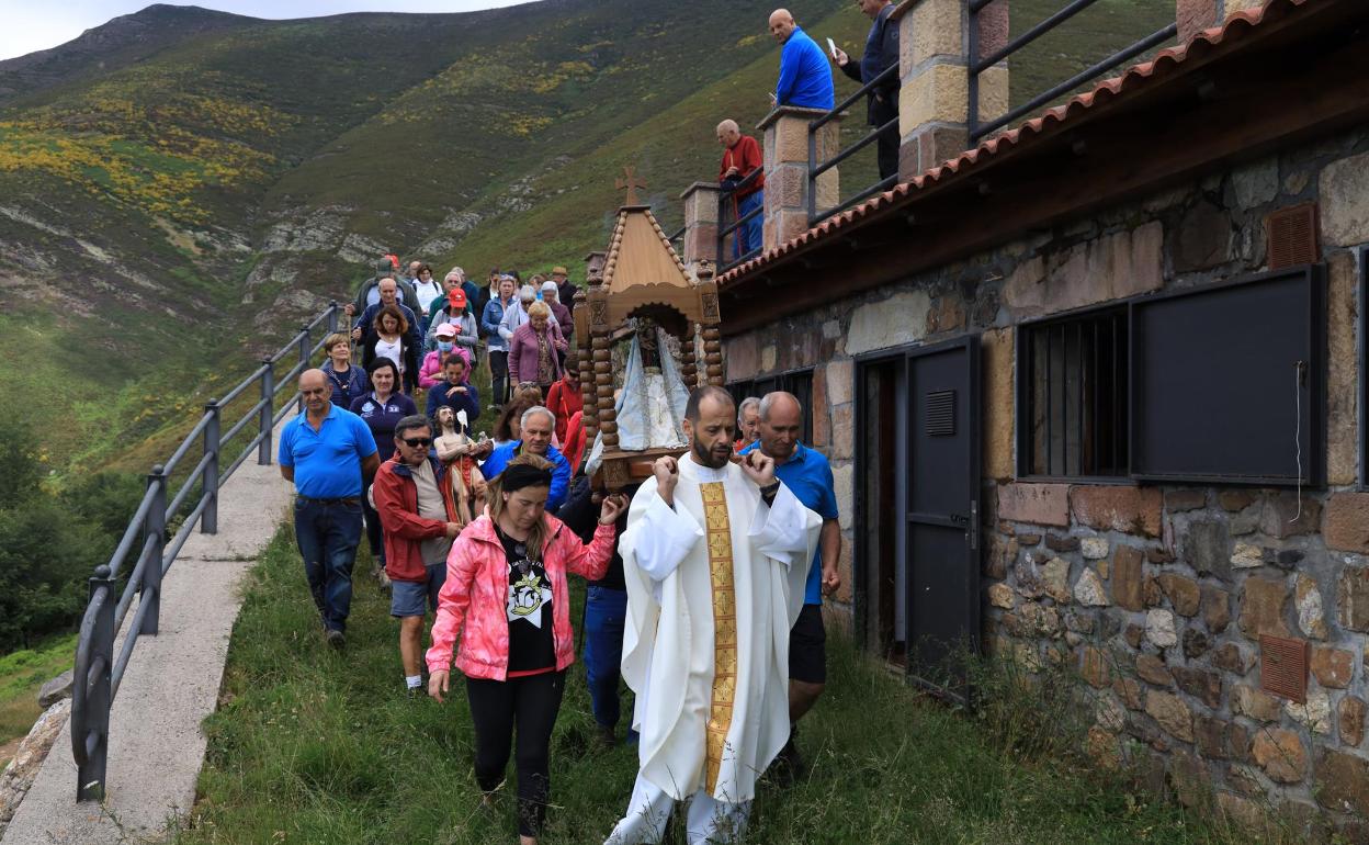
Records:
[[[327,333],[337,331],[341,311],[335,301],[329,303],[327,308],[300,327],[289,344],[271,357],[261,360],[260,366],[223,394],[223,399],[205,404],[204,414],[175,448],[171,457],[164,464],[152,467],[148,474],[148,489],[129,520],[129,526],[123,530],[110,563],[96,567],[89,582],[90,598],[81,616],[81,633],[77,637],[75,667],[73,670],[75,681],[71,692],[71,756],[77,763],[78,801],[104,797],[110,748],[110,709],[119,692],[129,660],[137,649],[138,638],[144,634],[155,635],[157,633],[162,578],[175,563],[196,526],[201,534],[218,533],[219,489],[242,466],[252,451],[257,451],[259,464],[271,463],[272,429],[294,409],[296,403],[303,401],[300,392],[293,389],[292,382],[296,382],[305,371],[309,360],[319,353],[327,337],[324,334],[318,342],[314,342],[314,331],[324,325]],[[277,378],[275,364],[292,353],[298,356],[297,363],[283,377]],[[260,388],[260,399],[226,434],[220,434],[223,408],[241,397],[252,385]],[[277,412],[275,401],[287,389],[290,389],[290,400]],[[229,464],[227,470],[220,472],[223,449],[253,419],[257,420],[256,436]],[[190,474],[181,482],[179,490],[167,503],[171,472],[190,453],[196,442],[201,444],[203,455]],[[200,486],[200,496],[194,508],[182,520],[175,535],[167,541],[167,523],[174,520],[181,508],[190,500],[196,485]],[[115,601],[119,568],[127,560],[140,534],[144,540],[138,559],[129,574],[123,593]],[[138,609],[129,622],[125,641],[119,648],[118,657],[115,657],[115,637],[123,627],[134,596],[138,596]]]

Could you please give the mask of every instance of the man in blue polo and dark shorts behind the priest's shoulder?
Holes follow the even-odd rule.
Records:
[[[789,720],[791,726],[812,709],[827,683],[827,631],[823,630],[823,596],[841,586],[836,559],[842,553],[842,530],[836,522],[836,490],[832,467],[821,452],[798,442],[804,430],[804,407],[791,393],[767,393],[760,407],[760,440],[742,455],[760,448],[775,459],[775,477],[784,482],[804,507],[823,518],[817,555],[808,570],[804,609],[789,634]],[[797,774],[802,767],[794,748],[795,727],[779,752],[779,763]]]

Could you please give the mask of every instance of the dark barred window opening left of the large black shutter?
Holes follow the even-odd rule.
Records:
[[[1021,326],[1017,474],[1127,477],[1127,308]]]

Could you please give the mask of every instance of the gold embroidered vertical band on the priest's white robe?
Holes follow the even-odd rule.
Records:
[[[737,589],[732,582],[732,526],[721,482],[700,485],[708,531],[708,570],[713,586],[713,696],[708,711],[708,794],[717,786],[737,696]]]

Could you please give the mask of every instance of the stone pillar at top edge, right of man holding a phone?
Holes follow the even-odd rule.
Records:
[[[965,0],[904,0],[898,21],[898,178],[909,181],[969,148],[969,7]],[[1008,0],[977,16],[979,55],[1008,42]],[[1008,63],[979,74],[979,123],[1008,112]]]

